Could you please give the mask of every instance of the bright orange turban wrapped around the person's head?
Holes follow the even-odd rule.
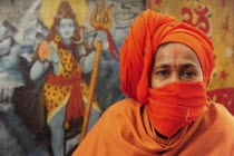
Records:
[[[120,49],[121,90],[144,105],[155,51],[164,42],[181,42],[192,48],[199,59],[203,81],[208,84],[212,76],[214,48],[209,38],[172,16],[146,10],[133,22]]]

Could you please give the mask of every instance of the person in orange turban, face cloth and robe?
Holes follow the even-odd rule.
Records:
[[[213,50],[197,28],[146,10],[120,49],[129,98],[104,113],[72,156],[233,156],[234,117],[206,96]]]

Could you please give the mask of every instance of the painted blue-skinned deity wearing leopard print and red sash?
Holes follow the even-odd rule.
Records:
[[[82,74],[92,69],[95,52],[86,52],[85,28],[67,1],[61,1],[47,38],[37,48],[37,59],[30,69],[33,80],[46,75],[40,90],[41,111],[46,109],[47,125],[51,131],[55,156],[65,155],[65,134],[70,124],[78,121],[81,128],[85,106]],[[86,94],[86,92],[85,92]]]

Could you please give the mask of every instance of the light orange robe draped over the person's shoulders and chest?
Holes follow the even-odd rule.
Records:
[[[72,156],[234,156],[234,117],[220,104],[209,104],[191,126],[159,138],[147,107],[121,100],[105,111]]]

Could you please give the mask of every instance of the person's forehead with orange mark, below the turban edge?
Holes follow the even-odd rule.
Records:
[[[155,65],[158,64],[183,64],[193,62],[199,65],[199,60],[193,49],[183,43],[168,43],[157,50],[155,58]]]

